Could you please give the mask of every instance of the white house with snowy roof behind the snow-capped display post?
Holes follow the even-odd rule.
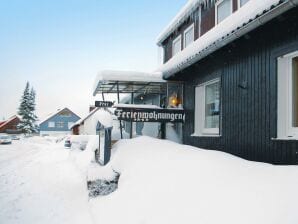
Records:
[[[94,108],[91,110],[91,112],[83,117],[82,119],[78,120],[75,124],[71,126],[72,134],[74,135],[96,135],[97,130],[97,114],[100,113],[101,110],[105,110],[108,113],[110,113],[113,117],[113,130],[112,135],[120,136],[120,127],[119,127],[119,121],[117,120],[117,117],[113,115],[112,111],[109,109],[103,109],[103,108]],[[120,137],[119,137],[120,138]]]

